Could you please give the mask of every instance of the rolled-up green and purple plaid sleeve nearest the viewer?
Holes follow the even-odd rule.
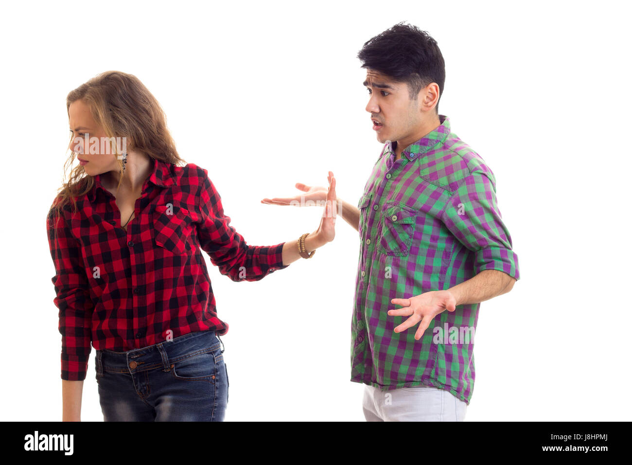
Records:
[[[475,273],[499,270],[520,279],[518,255],[496,202],[493,175],[475,171],[466,177],[441,217],[451,233],[475,254]]]

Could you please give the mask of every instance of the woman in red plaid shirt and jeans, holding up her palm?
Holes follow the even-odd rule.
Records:
[[[329,172],[319,227],[247,245],[207,170],[183,162],[154,96],[108,71],[66,99],[80,164],[54,200],[47,233],[62,335],[64,421],[80,420],[91,344],[105,421],[222,421],[228,372],[202,251],[223,275],[256,281],[334,239]],[[122,149],[122,150],[121,150]]]

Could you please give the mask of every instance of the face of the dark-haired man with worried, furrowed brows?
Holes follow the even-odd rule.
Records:
[[[410,139],[422,124],[419,100],[411,100],[408,85],[394,82],[392,78],[374,70],[367,70],[368,89],[367,111],[374,122],[377,140],[382,144],[387,140]]]

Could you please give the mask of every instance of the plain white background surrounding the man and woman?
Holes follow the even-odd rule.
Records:
[[[1,419],[61,419],[45,218],[68,156],[65,99],[106,70],[161,102],[180,156],[209,170],[248,244],[295,240],[320,209],[269,206],[295,182],[357,204],[381,150],[356,53],[400,21],[446,61],[439,113],[494,170],[520,259],[483,302],[466,421],[629,419],[629,9],[624,2],[28,3],[3,6]],[[8,8],[8,9],[7,9]],[[259,282],[209,264],[227,421],[363,421],[349,353],[358,234]],[[82,419],[102,421],[94,350]]]

